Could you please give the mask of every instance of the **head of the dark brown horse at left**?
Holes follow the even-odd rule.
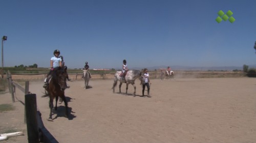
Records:
[[[56,76],[56,82],[60,86],[60,90],[65,90],[67,88],[67,77],[68,77],[68,72],[67,72],[67,67],[59,67],[55,71],[55,76]]]

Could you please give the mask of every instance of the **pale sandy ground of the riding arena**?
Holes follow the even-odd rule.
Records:
[[[113,80],[91,80],[92,89],[83,81],[68,82],[66,90],[70,119],[64,117],[64,104],[49,122],[48,98],[41,98],[42,82],[30,82],[37,95],[37,107],[46,128],[61,143],[66,142],[256,142],[255,78],[178,78],[152,79],[152,98],[113,93]],[[118,87],[116,87],[118,92]],[[125,84],[122,85],[125,92]],[[16,92],[24,102],[24,94]],[[0,104],[16,109],[1,112],[0,131],[24,131],[24,136],[0,142],[28,142],[24,105],[12,103],[9,93],[0,94]],[[1,133],[0,132],[0,133]]]

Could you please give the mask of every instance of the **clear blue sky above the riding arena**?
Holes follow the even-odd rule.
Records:
[[[256,63],[256,1],[1,1],[4,66],[243,66]],[[236,19],[216,22],[231,10]]]

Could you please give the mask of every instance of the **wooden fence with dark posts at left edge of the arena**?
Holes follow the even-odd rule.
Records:
[[[15,102],[14,93],[16,87],[25,94],[25,117],[24,122],[27,123],[28,142],[29,143],[57,143],[58,141],[45,128],[41,119],[41,113],[37,110],[36,94],[29,92],[29,81],[25,81],[25,88],[12,80],[11,73],[7,73],[8,88],[12,95],[12,102]]]

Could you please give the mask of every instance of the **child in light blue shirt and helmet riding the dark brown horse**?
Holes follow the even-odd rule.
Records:
[[[49,72],[49,74],[47,75],[47,78],[45,79],[45,84],[44,84],[44,88],[47,87],[48,81],[49,79],[52,77],[52,73],[55,69],[57,69],[58,67],[62,66],[62,60],[59,58],[59,54],[60,51],[58,49],[53,51],[53,57],[51,58],[51,62],[50,62],[50,66],[51,66],[51,70]]]

